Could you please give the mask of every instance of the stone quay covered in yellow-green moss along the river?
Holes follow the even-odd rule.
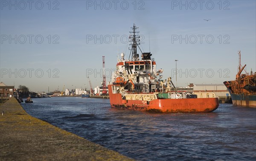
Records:
[[[2,116],[2,111],[4,114]],[[131,161],[23,110],[15,98],[0,104],[0,160]]]

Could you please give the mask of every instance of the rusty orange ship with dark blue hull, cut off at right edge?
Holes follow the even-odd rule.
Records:
[[[243,107],[256,107],[256,72],[251,70],[250,74],[241,65],[241,51],[238,51],[239,66],[236,80],[225,81],[227,90],[230,93],[233,105]],[[242,72],[245,72],[242,74]]]

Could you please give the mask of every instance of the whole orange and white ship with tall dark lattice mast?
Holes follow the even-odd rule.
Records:
[[[218,108],[218,98],[197,98],[193,92],[177,91],[172,78],[163,80],[150,52],[140,48],[138,27],[131,27],[129,58],[121,53],[108,85],[111,107],[160,113],[206,113]],[[137,54],[141,52],[141,59]]]

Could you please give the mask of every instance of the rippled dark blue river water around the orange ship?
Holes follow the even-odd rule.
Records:
[[[256,160],[256,108],[163,114],[116,110],[108,99],[33,101],[21,104],[30,115],[135,160]]]

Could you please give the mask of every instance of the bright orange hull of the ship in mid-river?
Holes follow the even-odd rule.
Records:
[[[111,107],[160,113],[206,113],[216,110],[219,105],[218,98],[154,99],[152,101],[143,101],[122,99],[120,93],[112,92],[109,93],[109,99]]]

